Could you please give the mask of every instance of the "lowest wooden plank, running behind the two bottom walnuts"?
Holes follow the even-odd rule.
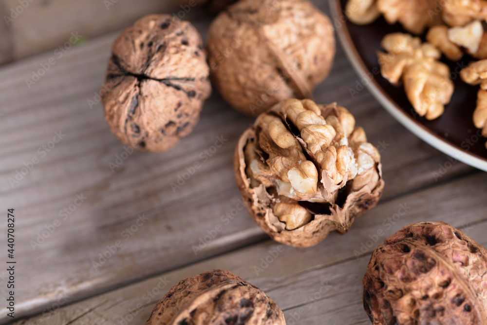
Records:
[[[142,324],[170,287],[212,268],[231,270],[262,288],[284,311],[289,325],[324,320],[332,325],[367,324],[361,280],[372,250],[401,226],[425,220],[448,222],[487,246],[485,201],[478,195],[487,190],[486,180],[487,174],[469,176],[390,200],[358,218],[348,234],[331,234],[315,247],[298,249],[268,240],[15,324]],[[399,213],[401,205],[409,208],[392,224],[388,218]],[[354,251],[379,229],[384,235],[356,256]]]

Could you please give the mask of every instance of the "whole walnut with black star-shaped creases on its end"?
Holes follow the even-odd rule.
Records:
[[[120,141],[163,152],[189,134],[211,92],[202,40],[187,21],[149,15],[115,40],[100,91]]]

